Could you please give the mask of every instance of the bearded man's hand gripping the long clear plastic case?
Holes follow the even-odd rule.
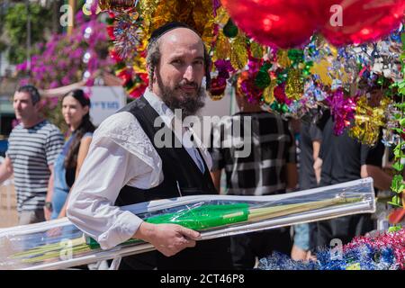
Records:
[[[151,224],[142,222],[133,238],[149,242],[157,251],[171,257],[186,247],[194,247],[200,233],[175,224]]]

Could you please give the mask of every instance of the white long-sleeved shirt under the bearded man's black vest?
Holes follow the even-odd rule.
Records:
[[[157,95],[146,91],[148,103],[162,116],[168,127],[173,127],[175,114]],[[193,130],[184,128],[184,141],[189,141]],[[195,135],[202,157],[211,169],[211,157]],[[202,159],[191,145],[184,148],[202,173]],[[130,112],[115,113],[94,131],[85,162],[69,195],[67,217],[85,234],[97,240],[103,249],[115,247],[131,238],[142,220],[130,211],[114,206],[121,188],[130,185],[150,189],[163,182],[162,160],[139,121]]]

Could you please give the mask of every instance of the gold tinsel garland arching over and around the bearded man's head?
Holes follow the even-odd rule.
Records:
[[[257,58],[264,55],[265,50],[261,45],[247,39],[238,30],[220,5],[220,1],[100,0],[99,5],[103,11],[113,14],[113,21],[107,30],[113,40],[114,53],[120,57],[118,64],[125,61],[125,66],[133,70],[132,78],[138,76],[138,80],[132,79],[128,85],[124,84],[129,91],[137,85],[135,94],[140,94],[147,86],[140,85],[139,81],[146,71],[147,41],[151,32],[165,23],[186,23],[202,35],[214,63],[211,76],[213,85],[210,91],[213,100],[220,100],[230,76],[246,67],[250,51]],[[220,62],[217,62],[218,60]],[[229,62],[231,68],[224,66],[224,61]],[[122,65],[118,68],[121,69]],[[139,72],[142,74],[139,75]],[[122,74],[122,71],[119,73],[126,78],[130,75]]]

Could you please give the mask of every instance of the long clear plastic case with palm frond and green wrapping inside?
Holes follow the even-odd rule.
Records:
[[[143,202],[121,209],[152,223],[201,231],[202,240],[375,211],[373,180],[360,179],[272,196],[199,195]],[[0,269],[62,269],[153,247],[130,239],[102,250],[66,218],[0,229]]]

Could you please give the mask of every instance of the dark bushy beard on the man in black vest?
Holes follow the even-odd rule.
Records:
[[[162,83],[160,76],[157,76],[157,85],[159,86],[162,101],[170,108],[173,112],[175,109],[182,110],[182,118],[187,116],[195,115],[204,105],[205,90],[202,86],[196,89],[196,94],[185,95],[183,99],[177,99],[175,97],[175,89],[180,89],[181,85],[177,85],[175,89],[170,89]]]

